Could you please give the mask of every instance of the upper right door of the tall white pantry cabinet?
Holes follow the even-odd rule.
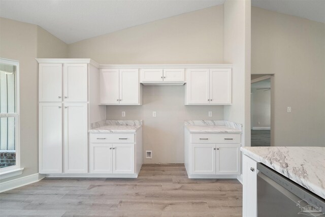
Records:
[[[64,102],[87,102],[88,100],[88,65],[63,65],[63,100]]]

